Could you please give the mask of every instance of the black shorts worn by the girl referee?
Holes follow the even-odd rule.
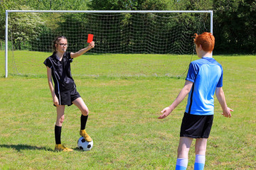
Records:
[[[58,93],[58,91],[55,91],[55,94],[58,98],[59,105],[71,106],[71,105],[73,105],[72,102],[75,101],[75,99],[81,97],[75,88],[72,91],[65,91],[65,92],[60,92],[60,93]],[[55,106],[55,105],[53,104],[53,106]]]

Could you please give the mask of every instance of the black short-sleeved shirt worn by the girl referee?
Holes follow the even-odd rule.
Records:
[[[73,62],[73,59],[70,57],[70,52],[65,52],[61,61],[58,60],[56,53],[53,52],[53,55],[43,62],[51,69],[55,93],[71,91],[75,88],[75,82],[70,70],[71,62]]]

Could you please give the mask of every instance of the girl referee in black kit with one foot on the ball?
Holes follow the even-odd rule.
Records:
[[[87,142],[92,141],[92,138],[85,132],[89,110],[76,90],[75,81],[70,72],[70,63],[73,62],[75,57],[79,57],[93,47],[95,47],[95,42],[92,41],[87,47],[78,52],[66,52],[68,48],[68,40],[64,36],[59,36],[53,41],[53,55],[43,62],[47,67],[48,84],[50,93],[53,97],[53,105],[56,106],[57,109],[57,120],[55,123],[56,151],[73,151],[73,149],[61,145],[60,142],[65,105],[71,106],[74,104],[80,109],[82,113],[80,117],[80,135],[84,137]]]

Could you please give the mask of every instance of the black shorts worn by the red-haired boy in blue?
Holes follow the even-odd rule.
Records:
[[[184,113],[180,137],[208,138],[213,125],[213,115],[191,115]]]

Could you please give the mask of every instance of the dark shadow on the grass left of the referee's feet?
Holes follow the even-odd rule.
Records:
[[[53,149],[50,149],[48,147],[36,147],[31,145],[0,145],[0,147],[6,147],[11,149],[16,149],[18,152],[21,152],[21,150],[45,150],[45,151],[51,151],[53,152]]]

